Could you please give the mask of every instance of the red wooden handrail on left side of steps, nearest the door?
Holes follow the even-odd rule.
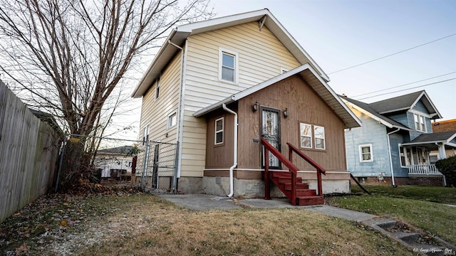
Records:
[[[274,146],[269,144],[266,139],[261,138],[261,144],[264,145],[264,199],[271,199],[269,191],[269,151],[291,172],[291,204],[296,206],[296,176],[298,175],[298,167],[295,166],[289,159],[279,152]]]

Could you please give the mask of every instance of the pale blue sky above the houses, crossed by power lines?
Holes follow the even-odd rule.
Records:
[[[456,119],[456,1],[212,0],[210,5],[216,17],[269,9],[338,94],[370,103],[426,90],[441,120]]]

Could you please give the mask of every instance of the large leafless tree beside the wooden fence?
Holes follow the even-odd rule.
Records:
[[[140,53],[178,23],[209,16],[208,0],[0,0],[0,71],[78,135],[61,186],[87,174],[86,137],[103,127],[103,105]]]

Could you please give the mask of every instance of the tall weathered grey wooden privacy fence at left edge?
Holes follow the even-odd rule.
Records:
[[[0,80],[0,223],[52,188],[60,142]]]

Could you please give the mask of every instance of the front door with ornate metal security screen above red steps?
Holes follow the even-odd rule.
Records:
[[[280,151],[280,110],[261,107],[261,137]],[[264,149],[261,148],[261,166],[264,167]],[[271,152],[267,156],[269,168],[281,169],[281,163]]]

